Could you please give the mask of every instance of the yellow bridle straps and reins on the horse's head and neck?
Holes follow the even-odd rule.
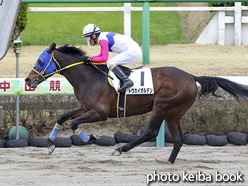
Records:
[[[59,67],[59,69],[56,68],[56,69],[54,69],[53,72],[51,72],[49,74],[45,74],[46,70],[49,68],[51,62],[54,62]],[[46,66],[46,68],[44,70],[41,70],[40,72],[37,71],[35,68],[33,68],[32,70],[35,73],[37,73],[38,75],[40,75],[43,78],[42,80],[46,80],[47,78],[49,78],[50,76],[52,76],[54,74],[59,74],[63,70],[66,70],[68,68],[71,68],[71,67],[74,67],[74,66],[77,66],[77,65],[81,65],[81,64],[84,64],[84,63],[85,63],[84,61],[81,61],[81,62],[73,63],[73,64],[70,64],[70,65],[67,65],[67,66],[61,68],[60,64],[58,63],[58,61],[54,57],[54,52],[52,52],[52,56],[51,56],[51,58],[49,60],[49,63],[47,64],[47,66]],[[92,66],[94,66],[95,68],[100,70],[96,65],[105,65],[106,63],[93,63],[93,62],[91,62],[90,64],[92,64]],[[101,72],[103,72],[103,71],[101,71]],[[105,72],[104,72],[104,74],[105,74]],[[38,77],[36,78],[36,80],[37,81],[42,81],[42,80],[39,80]]]

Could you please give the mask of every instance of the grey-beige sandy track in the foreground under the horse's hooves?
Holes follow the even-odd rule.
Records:
[[[184,146],[173,165],[167,162],[171,145],[136,147],[120,157],[111,156],[113,149],[73,146],[57,148],[52,155],[48,155],[45,148],[1,149],[0,185],[140,186],[147,185],[148,178],[153,179],[154,171],[163,181],[168,174],[180,180],[156,181],[150,185],[248,185],[247,146]],[[244,182],[216,181],[221,179],[216,173],[232,175],[234,179],[237,171]],[[196,181],[192,182],[187,174],[195,175]],[[211,177],[212,181],[199,181],[204,179],[198,177],[199,174],[208,180]],[[224,178],[227,179],[227,175]]]

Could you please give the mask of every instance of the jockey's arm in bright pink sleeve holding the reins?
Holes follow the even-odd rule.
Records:
[[[109,56],[108,41],[101,40],[99,41],[99,44],[101,46],[101,53],[97,56],[93,56],[91,60],[98,63],[107,62]]]

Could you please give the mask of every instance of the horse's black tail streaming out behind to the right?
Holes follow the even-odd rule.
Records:
[[[218,87],[220,87],[231,94],[238,101],[248,99],[248,88],[228,79],[210,76],[194,76],[194,79],[201,85],[201,90],[198,93],[199,98],[208,94],[212,94],[215,97],[221,97],[215,94],[215,91],[218,89]]]

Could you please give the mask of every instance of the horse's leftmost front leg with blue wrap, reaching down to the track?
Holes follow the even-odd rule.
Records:
[[[59,132],[59,129],[61,128],[62,124],[69,120],[69,119],[73,119],[78,117],[79,115],[81,115],[84,111],[82,109],[77,109],[77,110],[73,110],[71,112],[62,114],[61,116],[59,116],[59,118],[56,121],[56,124],[49,136],[48,139],[48,153],[52,154],[53,151],[55,150],[55,139],[57,137],[57,134]]]

